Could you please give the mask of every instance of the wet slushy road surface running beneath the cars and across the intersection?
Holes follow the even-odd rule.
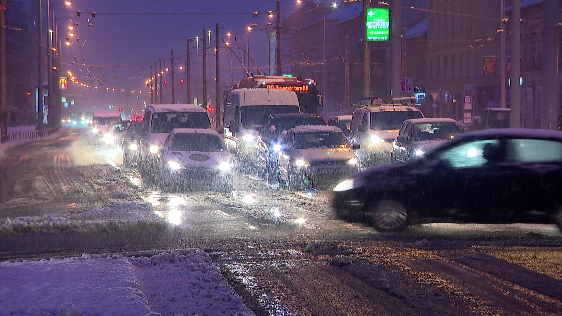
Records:
[[[9,152],[0,219],[76,217],[134,201],[169,225],[61,224],[49,233],[24,224],[0,233],[0,258],[201,248],[257,315],[562,313],[555,225],[437,223],[382,234],[337,220],[329,191],[287,191],[251,175],[235,175],[232,193],[164,193],[84,132]]]

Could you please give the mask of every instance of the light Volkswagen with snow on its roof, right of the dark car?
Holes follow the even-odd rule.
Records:
[[[339,127],[301,125],[287,131],[277,160],[279,187],[318,188],[359,171],[359,158]]]

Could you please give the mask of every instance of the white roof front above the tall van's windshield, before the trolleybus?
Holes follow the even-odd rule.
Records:
[[[244,105],[297,105],[297,94],[283,89],[234,89],[231,93],[239,93],[241,106]]]

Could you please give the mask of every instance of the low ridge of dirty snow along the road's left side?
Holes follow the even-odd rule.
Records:
[[[166,229],[173,224],[156,215],[146,202],[110,202],[82,214],[49,213],[40,216],[21,216],[0,219],[0,234],[21,233],[96,233],[128,231],[140,228]]]

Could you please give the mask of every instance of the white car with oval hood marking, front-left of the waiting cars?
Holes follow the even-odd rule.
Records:
[[[163,188],[211,186],[219,192],[232,191],[232,157],[215,130],[176,128],[158,156]]]

